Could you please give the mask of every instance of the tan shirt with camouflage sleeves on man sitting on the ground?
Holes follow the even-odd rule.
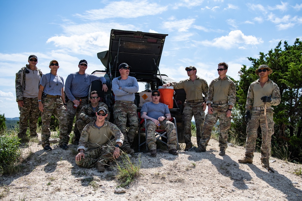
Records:
[[[79,140],[79,149],[84,149],[85,151],[90,151],[92,149],[104,146],[111,140],[111,137],[114,136],[115,142],[120,142],[123,144],[124,135],[120,132],[118,127],[108,120],[105,120],[104,125],[98,129],[95,127],[95,121],[87,124],[82,131],[80,140]]]

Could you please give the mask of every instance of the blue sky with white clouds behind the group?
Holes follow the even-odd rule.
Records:
[[[58,60],[64,80],[81,59],[88,61],[88,73],[104,70],[97,53],[108,50],[111,29],[169,34],[160,72],[180,81],[192,65],[208,83],[222,61],[238,80],[241,66],[251,65],[247,57],[302,38],[302,1],[293,0],[18,0],[0,6],[0,114],[8,118],[19,116],[14,80],[29,55],[37,55],[43,73]]]

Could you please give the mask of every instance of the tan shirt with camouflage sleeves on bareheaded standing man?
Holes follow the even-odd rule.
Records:
[[[225,77],[220,79],[220,77],[212,80],[209,85],[209,93],[207,98],[207,104],[217,101],[228,101],[228,105],[234,107],[236,102],[236,85],[235,83]]]

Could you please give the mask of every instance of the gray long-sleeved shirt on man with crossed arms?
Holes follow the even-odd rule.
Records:
[[[134,101],[135,93],[138,92],[137,80],[135,77],[131,76],[128,76],[126,80],[119,80],[116,77],[112,80],[112,91],[116,101]]]

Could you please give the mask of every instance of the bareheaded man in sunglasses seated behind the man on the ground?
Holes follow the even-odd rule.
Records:
[[[103,102],[99,102],[99,100],[100,97],[98,96],[98,93],[96,91],[90,92],[91,103],[82,107],[81,111],[79,112],[79,119],[78,121],[76,121],[76,125],[80,134],[82,133],[82,130],[87,124],[96,120],[95,112],[99,107],[105,107],[108,111],[108,106]],[[110,119],[109,111],[106,119]],[[76,144],[79,144],[79,142],[76,142]]]

